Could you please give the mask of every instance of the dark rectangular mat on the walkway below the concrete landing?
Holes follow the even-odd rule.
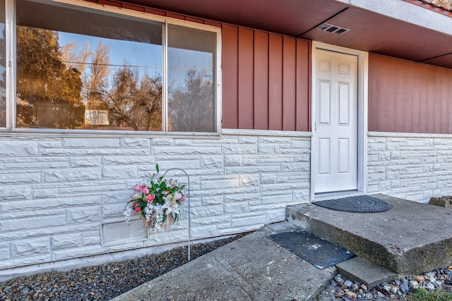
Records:
[[[356,256],[343,247],[304,230],[278,233],[270,235],[270,238],[319,269],[325,269]]]

